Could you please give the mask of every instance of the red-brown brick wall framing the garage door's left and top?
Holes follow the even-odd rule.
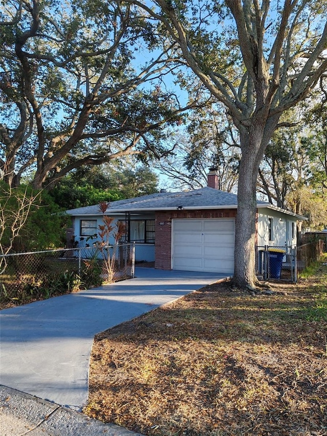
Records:
[[[155,213],[155,268],[172,269],[172,219],[235,218],[236,209],[164,211]]]

